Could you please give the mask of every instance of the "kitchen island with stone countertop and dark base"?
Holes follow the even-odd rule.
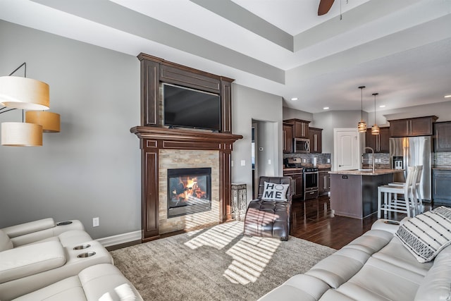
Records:
[[[330,209],[335,215],[363,219],[378,211],[378,186],[393,182],[402,169],[329,171]]]

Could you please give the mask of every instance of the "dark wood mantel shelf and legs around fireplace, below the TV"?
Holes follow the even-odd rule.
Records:
[[[159,150],[197,149],[219,152],[219,202],[223,221],[231,215],[231,156],[233,142],[242,135],[205,133],[195,130],[136,126],[131,133],[140,138],[142,161],[142,241],[159,237]]]

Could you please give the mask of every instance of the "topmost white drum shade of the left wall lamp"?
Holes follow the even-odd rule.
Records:
[[[0,104],[14,109],[48,110],[49,85],[32,78],[1,76]]]

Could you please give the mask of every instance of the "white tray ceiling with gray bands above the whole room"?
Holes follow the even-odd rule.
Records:
[[[1,0],[0,19],[140,52],[317,113],[447,102],[451,0]],[[341,17],[340,17],[341,16]],[[297,97],[297,101],[290,100]]]

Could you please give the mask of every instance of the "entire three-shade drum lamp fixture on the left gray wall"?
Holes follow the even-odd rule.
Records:
[[[22,66],[25,68],[24,78],[11,76]],[[0,109],[0,113],[6,113],[15,109],[47,110],[50,104],[49,85],[39,80],[27,78],[27,63],[22,63],[8,76],[0,77],[0,104],[4,105]],[[59,114],[50,112],[33,113],[35,112],[27,112],[27,119],[29,120],[26,122],[23,121],[24,113],[22,112],[21,123],[1,123],[1,145],[42,146],[43,131],[59,132]]]

